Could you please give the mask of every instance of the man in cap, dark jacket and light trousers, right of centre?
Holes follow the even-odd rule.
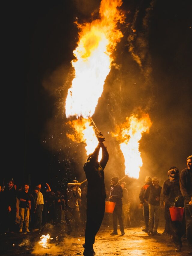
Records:
[[[144,199],[149,203],[149,236],[160,236],[157,232],[160,215],[160,194],[161,187],[158,184],[158,177],[152,178],[152,185],[150,185],[144,192]]]

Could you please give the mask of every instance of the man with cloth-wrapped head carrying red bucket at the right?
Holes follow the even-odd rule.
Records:
[[[181,237],[184,234],[184,223],[182,221],[172,221],[169,208],[173,206],[183,207],[184,198],[182,197],[179,187],[179,169],[175,166],[168,170],[169,179],[163,184],[163,199],[165,202],[165,211],[169,218],[169,227],[172,235],[172,240],[176,246],[175,251],[179,252],[182,248]]]

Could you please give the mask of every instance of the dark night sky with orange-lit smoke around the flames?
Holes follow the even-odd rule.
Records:
[[[73,179],[85,179],[84,145],[66,137],[70,128],[64,103],[78,41],[74,21],[78,17],[79,23],[90,22],[99,5],[100,1],[85,0],[23,1],[9,8],[4,53],[11,81],[5,89],[6,167],[0,184],[3,178],[5,183],[14,178],[18,185],[48,182],[62,190]],[[124,37],[115,53],[119,68],[112,66],[93,116],[110,154],[105,182],[125,175],[118,143],[107,131],[143,110],[153,125],[140,141],[140,181],[159,176],[162,185],[167,170],[171,166],[182,170],[192,155],[192,4],[190,0],[126,0],[122,9]],[[131,55],[131,46],[142,66]]]

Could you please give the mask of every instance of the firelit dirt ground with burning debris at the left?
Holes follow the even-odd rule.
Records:
[[[112,226],[102,225],[95,239],[94,250],[96,255],[187,255],[187,241],[183,239],[181,253],[174,251],[174,245],[167,236],[148,236],[142,231],[142,226],[125,228],[125,236],[111,236]],[[159,233],[163,227],[158,229]],[[40,237],[50,235],[50,239],[42,244]],[[84,231],[66,234],[64,226],[52,226],[47,224],[41,233],[14,233],[1,235],[0,255],[82,255],[84,243]]]

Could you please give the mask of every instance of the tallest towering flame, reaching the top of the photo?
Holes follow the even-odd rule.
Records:
[[[76,57],[72,61],[75,78],[67,94],[67,117],[88,118],[95,112],[113,62],[112,53],[123,37],[117,28],[118,23],[123,23],[125,19],[119,9],[121,5],[122,0],[102,0],[100,19],[77,24],[80,29],[79,42],[73,51]]]

